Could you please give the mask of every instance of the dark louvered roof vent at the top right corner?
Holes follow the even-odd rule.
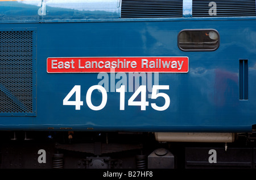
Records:
[[[216,15],[210,15],[210,2],[216,3]],[[210,10],[211,11],[211,10]],[[211,11],[213,12],[213,11]],[[193,17],[202,16],[255,16],[255,0],[253,1],[236,1],[236,0],[218,0],[218,1],[200,1],[192,2]]]

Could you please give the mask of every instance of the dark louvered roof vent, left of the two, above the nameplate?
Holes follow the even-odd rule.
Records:
[[[182,0],[122,0],[121,18],[175,18],[182,16]]]

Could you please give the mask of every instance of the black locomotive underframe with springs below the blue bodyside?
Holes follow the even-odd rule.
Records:
[[[230,143],[156,141],[151,132],[1,135],[1,169],[253,169],[256,162],[254,133],[237,133]]]

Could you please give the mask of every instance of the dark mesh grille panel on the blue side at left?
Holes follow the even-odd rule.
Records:
[[[33,32],[0,32],[0,113],[33,112]]]

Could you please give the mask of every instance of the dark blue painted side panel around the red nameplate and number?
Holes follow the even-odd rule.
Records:
[[[31,12],[32,13],[32,12]],[[37,13],[37,11],[36,11]],[[36,16],[34,16],[36,17]],[[6,20],[6,19],[3,19]],[[10,19],[7,19],[10,20]],[[239,24],[239,26],[238,26]],[[36,28],[36,116],[1,116],[0,129],[73,131],[250,132],[256,124],[255,18],[109,19],[73,23],[2,22],[1,28]],[[213,52],[183,52],[177,35],[184,29],[213,28],[220,47]],[[102,78],[98,73],[47,73],[48,57],[189,57],[188,73],[159,73],[160,90],[170,97],[170,107],[156,111],[147,106],[127,106],[134,92],[126,92],[125,110],[119,110],[119,93],[108,92],[99,111],[86,104],[86,93]],[[240,60],[248,60],[248,100],[239,97]],[[117,73],[110,83],[118,83]],[[127,74],[127,77],[128,74]],[[131,79],[127,79],[127,82]],[[80,110],[63,106],[63,99],[81,86]],[[95,91],[92,102],[100,104]],[[73,100],[75,101],[75,100]],[[147,98],[151,103],[164,100]],[[160,105],[159,105],[160,106]]]

